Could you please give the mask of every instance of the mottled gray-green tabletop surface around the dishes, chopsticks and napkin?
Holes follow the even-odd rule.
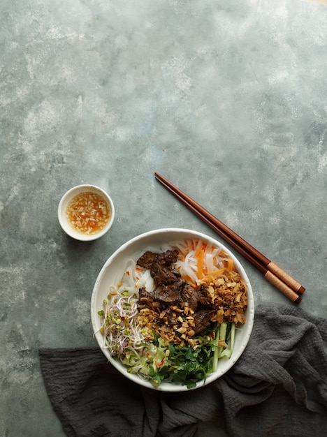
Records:
[[[155,228],[215,236],[155,170],[327,315],[326,19],[300,0],[1,1],[1,436],[63,436],[38,348],[95,346],[92,288],[115,249]],[[81,183],[115,202],[98,242],[59,228]],[[256,304],[292,305],[244,265]]]

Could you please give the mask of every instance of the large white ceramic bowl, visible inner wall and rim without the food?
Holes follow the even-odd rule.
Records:
[[[121,265],[124,265],[124,261],[127,258],[135,257],[136,259],[138,255],[140,255],[140,253],[148,246],[160,249],[162,244],[192,238],[201,238],[205,242],[210,242],[217,247],[221,247],[221,249],[223,249],[225,253],[228,253],[228,255],[231,256],[235,267],[238,269],[238,272],[242,276],[242,279],[247,284],[248,306],[245,313],[246,322],[240,327],[240,329],[237,330],[235,334],[235,343],[231,358],[229,360],[219,361],[217,371],[211,373],[206,378],[205,382],[198,382],[196,387],[194,388],[203,387],[203,385],[212,383],[212,381],[224,375],[226,371],[231,369],[233,364],[235,364],[235,362],[240,358],[243,351],[245,350],[245,347],[247,346],[247,342],[249,341],[254,322],[254,299],[251,284],[249,283],[249,279],[247,277],[247,274],[245,273],[245,269],[240,264],[240,261],[225,246],[217,242],[215,239],[212,239],[211,237],[208,237],[207,235],[204,235],[201,232],[196,232],[194,230],[168,228],[146,232],[145,234],[139,235],[138,237],[131,239],[129,242],[126,242],[110,256],[105,265],[103,265],[101,272],[96,279],[96,283],[94,284],[94,289],[92,293],[92,326],[96,341],[98,341],[99,346],[103,351],[103,354],[106,355],[112,366],[115,366],[115,368],[118,369],[124,376],[126,376],[126,378],[129,378],[134,383],[138,383],[140,385],[143,385],[144,387],[161,390],[163,392],[180,392],[193,389],[188,389],[184,385],[174,385],[171,383],[161,383],[159,387],[154,387],[152,383],[141,379],[135,374],[128,373],[126,371],[126,368],[122,364],[120,364],[117,360],[114,360],[110,356],[108,349],[104,346],[103,336],[101,332],[99,332],[99,329],[101,328],[101,318],[99,317],[98,311],[101,311],[101,309],[103,309],[103,299],[107,299],[109,287],[119,281],[119,279],[116,277],[117,271],[121,271],[121,268],[119,269],[119,267]]]

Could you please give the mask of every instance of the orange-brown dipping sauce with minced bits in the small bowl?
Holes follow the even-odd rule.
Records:
[[[98,193],[85,191],[75,195],[66,208],[71,227],[81,234],[94,235],[110,220],[108,202]]]

